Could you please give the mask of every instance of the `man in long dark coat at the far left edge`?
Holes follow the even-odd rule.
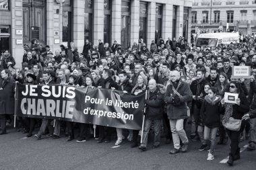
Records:
[[[8,69],[1,71],[0,79],[0,123],[1,134],[6,134],[6,116],[14,114],[15,80]]]

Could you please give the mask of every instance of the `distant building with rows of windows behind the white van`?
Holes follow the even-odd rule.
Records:
[[[256,35],[255,0],[193,0],[191,33],[232,32]]]

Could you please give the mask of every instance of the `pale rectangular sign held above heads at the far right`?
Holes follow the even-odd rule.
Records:
[[[250,66],[233,66],[232,67],[232,79],[249,79],[251,76]]]

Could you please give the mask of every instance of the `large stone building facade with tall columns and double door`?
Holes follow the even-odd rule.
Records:
[[[192,0],[0,0],[0,50],[21,65],[23,46],[37,39],[53,51],[86,39],[124,48],[142,39],[150,46],[162,37],[190,42]]]

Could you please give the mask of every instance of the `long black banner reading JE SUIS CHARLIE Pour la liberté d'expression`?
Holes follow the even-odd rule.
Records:
[[[61,85],[17,85],[16,115],[139,130],[145,93]]]

